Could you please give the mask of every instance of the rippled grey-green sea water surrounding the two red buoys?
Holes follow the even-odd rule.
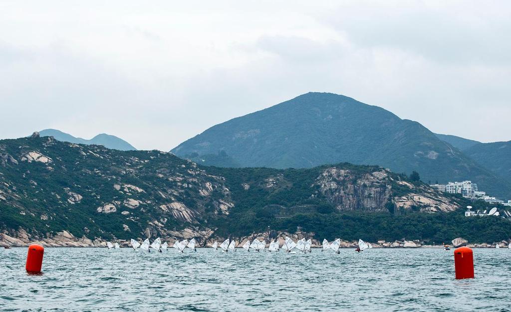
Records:
[[[475,279],[454,279],[453,251],[341,254],[167,253],[46,248],[42,275],[27,248],[0,250],[0,310],[508,311],[511,250],[475,249]]]

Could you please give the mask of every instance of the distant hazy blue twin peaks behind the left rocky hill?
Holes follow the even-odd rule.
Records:
[[[125,140],[106,133],[101,133],[91,138],[90,140],[82,139],[80,137],[74,137],[71,134],[64,133],[55,129],[44,129],[39,131],[41,136],[53,136],[56,140],[77,144],[86,145],[102,145],[109,149],[120,150],[120,151],[135,151],[136,149]]]

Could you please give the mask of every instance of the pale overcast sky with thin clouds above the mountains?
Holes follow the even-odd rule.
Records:
[[[511,140],[508,1],[0,2],[0,138],[169,151],[309,91]]]

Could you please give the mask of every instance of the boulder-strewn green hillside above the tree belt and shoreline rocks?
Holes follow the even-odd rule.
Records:
[[[171,153],[109,150],[52,137],[0,140],[0,232],[12,238],[196,236],[203,244],[215,235],[268,230],[266,218],[458,207],[378,166],[222,169]],[[275,223],[272,230],[281,227]]]

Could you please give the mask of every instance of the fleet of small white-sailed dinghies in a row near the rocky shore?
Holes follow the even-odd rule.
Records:
[[[135,251],[138,248],[140,248],[141,250],[148,251],[148,252],[151,251],[150,249],[154,249],[159,252],[164,252],[169,247],[167,242],[161,243],[161,238],[159,238],[159,237],[156,238],[152,244],[149,243],[149,238],[146,238],[145,241],[142,242],[142,244],[138,243],[135,239],[131,239],[130,244],[131,244],[131,247],[133,248],[133,250],[135,250]],[[190,241],[188,241],[188,239],[183,239],[182,241],[175,241],[172,248],[177,249],[177,251],[179,251],[179,252],[184,252],[185,248],[189,248],[193,251],[197,251],[196,245],[197,245],[197,242],[196,242],[195,238],[190,239]],[[323,239],[321,251],[332,250],[334,253],[339,254],[340,253],[339,252],[340,245],[341,245],[340,238],[335,239],[335,241],[333,241],[332,243],[329,243],[327,241],[327,239]],[[120,248],[119,243],[112,244],[111,242],[107,242],[106,246],[108,247],[108,249]],[[509,246],[511,246],[511,244]],[[218,242],[213,243],[212,248],[217,250],[218,247],[220,247],[220,249],[223,252],[236,251],[236,241],[234,241],[234,240],[230,241],[230,239],[227,238],[220,245],[218,245]],[[299,251],[302,253],[308,253],[308,252],[312,252],[311,247],[312,247],[312,239],[310,239],[310,238],[307,239],[307,241],[306,241],[306,239],[304,237],[304,238],[299,239],[297,242],[294,242],[293,239],[291,239],[288,236],[285,236],[284,244],[282,245],[282,247],[280,246],[278,239],[277,240],[272,239],[271,242],[269,243],[268,251],[270,251],[270,252],[271,251],[279,251],[280,248],[282,248],[288,253],[296,253],[296,251]],[[259,241],[257,238],[255,238],[251,243],[250,243],[250,241],[246,241],[243,244],[242,248],[245,249],[246,251],[250,251],[250,250],[265,251],[266,242],[264,241],[264,239],[262,241]],[[373,246],[371,246],[371,244],[365,243],[364,241],[362,241],[362,239],[359,239],[358,248],[356,251],[364,251],[364,250],[371,249],[371,248],[373,248]],[[511,248],[511,247],[509,247],[509,248]]]

